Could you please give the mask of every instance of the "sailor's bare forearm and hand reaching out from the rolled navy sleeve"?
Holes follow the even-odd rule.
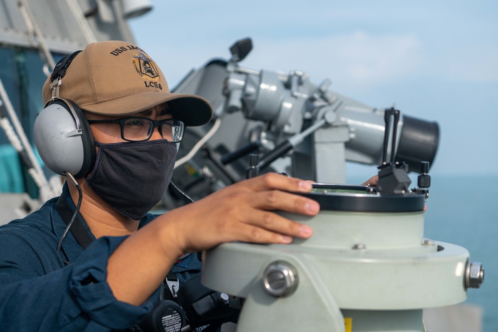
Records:
[[[265,174],[226,187],[168,212],[126,238],[109,258],[107,281],[115,297],[139,305],[159,286],[177,257],[223,242],[290,243],[312,230],[272,210],[313,216],[317,202],[288,192],[309,192],[311,184]]]

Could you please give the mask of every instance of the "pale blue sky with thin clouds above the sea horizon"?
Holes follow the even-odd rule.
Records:
[[[250,37],[246,68],[301,70],[364,104],[436,121],[431,174],[498,175],[498,1],[151,2],[128,22],[170,87]]]

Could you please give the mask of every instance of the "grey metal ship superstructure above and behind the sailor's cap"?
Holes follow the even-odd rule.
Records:
[[[0,0],[0,43],[39,47],[39,38],[33,33],[32,24],[23,16],[19,2],[24,2],[29,8],[52,52],[70,53],[96,40],[133,42],[133,35],[123,18],[121,1]],[[85,25],[90,28],[90,33],[85,31]],[[91,40],[91,36],[96,40]]]

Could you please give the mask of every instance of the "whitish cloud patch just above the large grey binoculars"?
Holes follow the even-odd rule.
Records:
[[[267,69],[299,69],[320,80],[372,85],[416,74],[423,60],[421,42],[413,34],[373,36],[356,31],[337,36],[257,40],[248,64]],[[298,67],[298,68],[297,68]]]

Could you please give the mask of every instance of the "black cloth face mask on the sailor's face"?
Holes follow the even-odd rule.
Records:
[[[87,184],[116,211],[141,219],[171,181],[176,144],[165,139],[95,144],[99,151]]]

